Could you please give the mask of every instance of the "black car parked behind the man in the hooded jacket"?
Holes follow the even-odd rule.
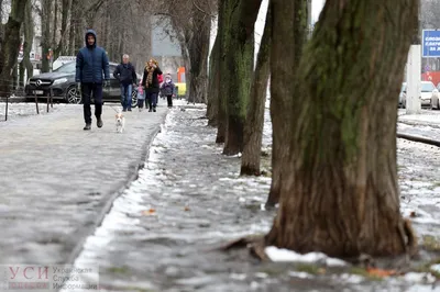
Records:
[[[102,101],[120,102],[121,89],[119,81],[113,77],[118,64],[110,63],[110,88],[103,89]],[[47,97],[52,89],[54,100],[64,100],[68,103],[80,103],[81,98],[76,89],[75,82],[76,63],[66,63],[52,72],[36,75],[28,81],[24,88],[29,99],[37,97]],[[138,76],[138,82],[140,77]],[[132,108],[138,106],[138,88],[133,88]]]

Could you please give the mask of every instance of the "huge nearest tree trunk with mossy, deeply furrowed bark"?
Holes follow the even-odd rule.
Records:
[[[267,245],[355,257],[396,256],[415,244],[399,210],[395,100],[417,11],[417,0],[327,0],[295,92],[285,91],[292,147]],[[293,42],[288,30],[273,30],[274,46]],[[295,66],[275,56],[282,71]]]

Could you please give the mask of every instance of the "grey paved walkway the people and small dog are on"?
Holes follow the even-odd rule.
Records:
[[[54,105],[45,115],[0,123],[0,263],[68,263],[130,179],[168,110],[114,111],[103,127],[82,131],[81,105]],[[112,105],[118,108],[117,104]]]

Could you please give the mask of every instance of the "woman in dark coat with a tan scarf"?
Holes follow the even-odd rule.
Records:
[[[148,101],[150,105],[148,112],[156,111],[161,75],[162,70],[155,59],[151,59],[145,64],[142,86],[145,88],[145,101]]]

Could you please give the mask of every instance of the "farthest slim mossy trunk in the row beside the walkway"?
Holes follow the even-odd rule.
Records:
[[[219,113],[219,87],[220,87],[220,37],[216,36],[212,46],[211,56],[209,57],[209,83],[208,83],[208,125],[217,126]]]

